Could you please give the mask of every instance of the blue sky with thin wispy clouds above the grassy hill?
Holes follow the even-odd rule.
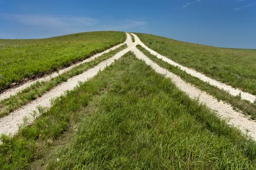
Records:
[[[256,48],[256,0],[0,0],[0,38],[116,30]]]

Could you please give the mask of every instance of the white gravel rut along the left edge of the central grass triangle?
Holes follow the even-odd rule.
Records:
[[[131,37],[127,36],[125,41],[126,44],[131,44]],[[115,54],[113,57],[106,59],[105,61],[99,63],[94,68],[90,68],[89,70],[85,71],[82,74],[79,74],[75,77],[72,77],[67,80],[67,82],[63,82],[60,85],[56,86],[52,90],[48,91],[43,96],[39,97],[38,99],[30,102],[28,105],[23,106],[22,108],[10,113],[8,116],[0,118],[0,134],[10,134],[13,135],[18,130],[18,125],[23,123],[23,119],[26,117],[28,118],[28,123],[33,121],[33,116],[31,113],[36,111],[38,116],[38,106],[47,107],[51,106],[51,100],[65,94],[67,90],[73,90],[79,82],[87,81],[88,79],[94,77],[100,70],[105,69],[108,65],[111,65],[115,59],[119,59],[125,53],[131,50],[130,47],[120,51],[119,53]]]

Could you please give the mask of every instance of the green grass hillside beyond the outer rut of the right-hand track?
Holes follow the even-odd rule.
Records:
[[[149,34],[136,35],[159,54],[256,95],[256,50],[216,48]]]

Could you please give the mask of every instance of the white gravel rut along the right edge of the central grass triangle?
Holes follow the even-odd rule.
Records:
[[[161,68],[137,48],[133,48],[132,51],[139,59],[143,59],[145,63],[150,65],[157,73],[166,75],[166,77],[172,79],[172,82],[175,83],[177,88],[188,94],[190,98],[197,99],[199,97],[199,101],[201,103],[204,103],[208,108],[217,111],[218,115],[221,116],[222,119],[227,119],[230,125],[238,127],[245,134],[247,133],[247,130],[249,130],[248,135],[256,140],[256,122],[249,120],[248,117],[244,116],[244,114],[234,111],[231,105],[224,102],[218,102],[217,99],[206,92],[199,90],[198,88],[183,81],[175,74]]]

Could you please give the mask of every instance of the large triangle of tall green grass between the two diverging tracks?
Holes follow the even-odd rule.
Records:
[[[2,141],[2,169],[253,169],[256,163],[255,142],[132,53]]]

